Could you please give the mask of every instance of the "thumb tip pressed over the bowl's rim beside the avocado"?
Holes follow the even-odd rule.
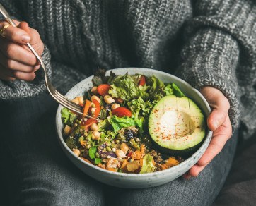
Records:
[[[211,131],[215,131],[226,121],[227,116],[227,111],[223,111],[221,109],[214,109],[207,119],[209,129]]]

